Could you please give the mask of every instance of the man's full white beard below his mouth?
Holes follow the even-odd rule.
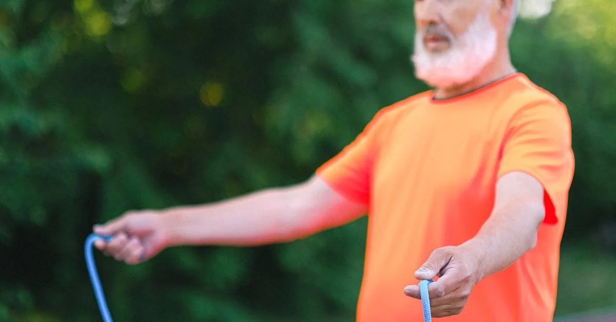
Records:
[[[448,88],[468,83],[481,72],[496,53],[496,30],[488,13],[477,15],[468,30],[455,38],[447,30],[451,47],[444,52],[428,52],[424,46],[425,31],[415,35],[415,75],[430,86]]]

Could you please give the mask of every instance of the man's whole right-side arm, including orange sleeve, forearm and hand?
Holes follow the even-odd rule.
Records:
[[[459,314],[480,279],[533,249],[541,223],[564,220],[573,163],[564,105],[543,101],[519,110],[509,123],[490,218],[464,244],[434,250],[415,272],[417,279],[440,276],[429,286],[432,316]],[[421,298],[417,285],[404,291]]]

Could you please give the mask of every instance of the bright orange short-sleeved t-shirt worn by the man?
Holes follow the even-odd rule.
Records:
[[[423,321],[403,289],[432,250],[477,234],[495,184],[524,171],[545,188],[537,246],[474,287],[447,322],[548,322],[556,305],[559,246],[573,176],[571,124],[556,97],[517,73],[442,101],[417,94],[378,112],[354,142],[317,170],[368,206],[357,321]]]

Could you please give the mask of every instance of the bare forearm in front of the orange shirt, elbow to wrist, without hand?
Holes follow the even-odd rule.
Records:
[[[461,245],[476,257],[477,281],[504,270],[533,249],[544,216],[543,207],[532,205],[495,209],[479,233]]]

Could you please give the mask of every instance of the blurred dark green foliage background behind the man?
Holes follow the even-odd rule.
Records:
[[[511,39],[573,123],[561,314],[616,303],[615,14],[557,1]],[[426,89],[412,16],[402,0],[0,1],[0,321],[99,319],[82,255],[94,223],[306,180]],[[365,224],[97,259],[116,321],[351,321]]]

